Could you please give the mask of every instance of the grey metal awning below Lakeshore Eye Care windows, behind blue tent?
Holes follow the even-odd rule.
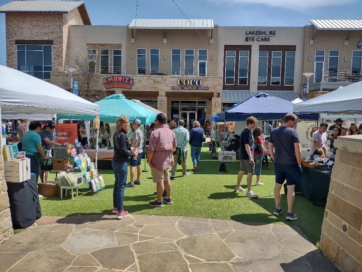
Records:
[[[293,91],[260,91],[268,95],[279,97],[288,101],[293,101],[299,98],[299,95]],[[221,101],[223,103],[241,103],[246,99],[256,95],[259,92],[248,92],[248,91],[222,91]]]

